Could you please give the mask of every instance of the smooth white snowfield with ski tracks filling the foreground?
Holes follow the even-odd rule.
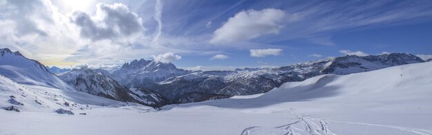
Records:
[[[21,91],[23,86],[0,77],[1,107],[10,105],[10,94],[24,104],[21,112],[0,110],[0,134],[432,134],[431,66],[315,76],[257,97],[168,105],[159,112],[72,108],[75,115],[53,112],[63,106],[43,91],[56,90]],[[20,97],[21,92],[29,95]],[[37,111],[47,109],[26,99],[33,92],[43,105],[57,106]],[[77,115],[81,112],[87,115]]]

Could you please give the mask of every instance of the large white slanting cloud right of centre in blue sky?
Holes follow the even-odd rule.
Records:
[[[238,12],[213,34],[210,43],[231,43],[254,39],[263,34],[277,34],[285,12],[268,8]]]

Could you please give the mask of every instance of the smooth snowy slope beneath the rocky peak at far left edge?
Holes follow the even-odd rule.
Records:
[[[70,86],[38,61],[27,59],[19,52],[0,49],[0,74],[17,83],[72,90]]]

